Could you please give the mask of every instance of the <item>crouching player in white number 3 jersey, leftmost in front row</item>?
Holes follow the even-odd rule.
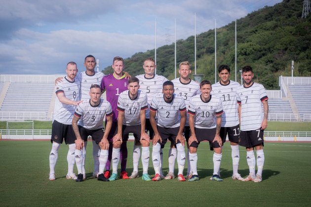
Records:
[[[99,85],[91,85],[89,95],[90,99],[88,101],[84,101],[78,105],[72,121],[73,129],[77,136],[75,141],[75,160],[78,168],[78,178],[76,181],[83,181],[82,149],[88,136],[91,136],[95,143],[101,148],[99,156],[99,174],[97,175],[97,179],[108,181],[104,176],[104,169],[108,160],[109,142],[107,137],[112,126],[113,111],[111,104],[100,98],[102,93]],[[103,128],[105,115],[106,130]]]

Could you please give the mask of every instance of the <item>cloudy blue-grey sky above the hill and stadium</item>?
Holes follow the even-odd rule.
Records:
[[[64,73],[84,57],[100,69],[246,16],[281,0],[0,0],[0,74]]]

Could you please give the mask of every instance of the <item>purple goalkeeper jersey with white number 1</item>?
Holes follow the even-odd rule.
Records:
[[[127,81],[125,75],[117,78],[113,73],[105,75],[102,79],[102,91],[106,90],[107,101],[111,104],[114,112],[113,121],[117,121],[117,99],[120,93],[127,90]]]

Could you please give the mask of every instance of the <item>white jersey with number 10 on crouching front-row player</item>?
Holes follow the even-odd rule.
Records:
[[[196,95],[190,99],[188,113],[194,115],[194,127],[200,129],[213,129],[216,127],[216,116],[223,113],[220,98],[210,95],[208,102]]]

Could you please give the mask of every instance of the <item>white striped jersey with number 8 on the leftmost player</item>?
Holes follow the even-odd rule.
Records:
[[[80,82],[76,77],[75,80],[69,81],[67,76],[64,77],[63,82],[56,84],[55,93],[64,93],[64,96],[71,101],[79,101],[79,91],[80,91]],[[76,106],[63,104],[58,98],[55,99],[53,120],[58,121],[62,124],[72,124],[73,116],[75,113]]]

